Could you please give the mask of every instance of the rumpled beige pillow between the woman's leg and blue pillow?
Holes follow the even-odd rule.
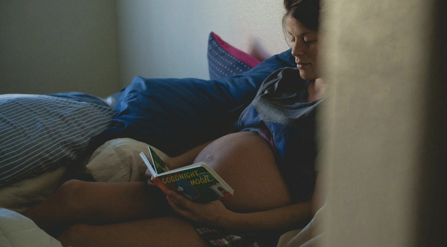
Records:
[[[151,146],[162,159],[169,158],[164,152]],[[149,156],[148,144],[131,138],[118,138],[105,142],[97,148],[85,166],[98,182],[144,181],[146,165],[140,152]]]

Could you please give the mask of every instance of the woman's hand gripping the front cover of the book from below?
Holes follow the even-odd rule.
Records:
[[[177,214],[210,226],[232,228],[236,213],[226,209],[222,202],[196,203],[172,190],[166,194],[169,205]]]

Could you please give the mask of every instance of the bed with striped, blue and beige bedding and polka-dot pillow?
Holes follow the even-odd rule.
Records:
[[[0,95],[0,246],[60,246],[16,212],[71,178],[144,180],[139,152],[168,158],[223,136],[263,80],[294,61],[290,50],[257,61],[210,33],[210,80],[137,76],[107,99]]]

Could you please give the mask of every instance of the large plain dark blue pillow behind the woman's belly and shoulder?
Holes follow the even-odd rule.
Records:
[[[275,70],[295,67],[291,50],[243,74],[214,80],[135,77],[115,105],[112,127],[98,141],[129,137],[177,156],[228,133],[231,121]],[[233,114],[232,113],[236,113]]]

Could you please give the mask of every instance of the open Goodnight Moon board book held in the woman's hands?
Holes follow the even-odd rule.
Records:
[[[164,193],[170,189],[200,203],[232,197],[234,190],[207,163],[199,162],[169,170],[156,152],[148,148],[152,162],[144,152],[140,156],[152,174],[152,182]]]

